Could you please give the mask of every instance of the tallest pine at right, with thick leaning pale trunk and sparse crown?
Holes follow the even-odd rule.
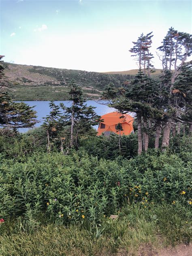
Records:
[[[186,59],[191,55],[192,52],[192,37],[188,33],[178,32],[174,28],[170,28],[165,38],[162,41],[162,45],[158,47],[162,52],[162,67],[163,75],[170,76],[171,81],[166,83],[166,90],[169,92],[167,97],[167,105],[164,107],[164,130],[162,139],[162,151],[169,147],[169,137],[171,131],[171,125],[177,108],[174,104],[173,90],[174,84],[181,73],[183,65]],[[174,70],[171,70],[172,66]],[[168,72],[169,70],[169,72]],[[165,81],[166,79],[164,79]],[[169,79],[167,79],[169,80]]]

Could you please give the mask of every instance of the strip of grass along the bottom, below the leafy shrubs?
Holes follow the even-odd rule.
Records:
[[[42,224],[28,230],[18,218],[2,224],[0,255],[138,255],[143,245],[158,251],[166,245],[189,243],[186,220],[187,211],[181,214],[165,203],[142,211],[138,204],[128,205],[117,220],[106,218],[94,229],[88,223],[64,226],[43,218]]]

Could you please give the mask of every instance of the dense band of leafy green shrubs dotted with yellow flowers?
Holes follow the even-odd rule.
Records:
[[[178,155],[98,160],[85,151],[70,156],[38,153],[26,162],[0,160],[0,218],[21,216],[25,225],[42,218],[57,224],[98,225],[124,205],[154,202],[191,205],[191,162]]]

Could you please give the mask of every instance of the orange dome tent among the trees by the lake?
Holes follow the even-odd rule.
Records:
[[[128,114],[124,115],[124,117],[120,118],[122,114],[118,112],[111,112],[105,115],[102,115],[101,119],[104,120],[104,122],[100,123],[98,127],[98,136],[101,135],[103,132],[105,135],[109,135],[110,132],[114,132],[116,134],[119,134],[119,131],[116,130],[117,124],[121,124],[122,131],[120,131],[121,135],[128,135],[131,132],[134,132],[133,130],[133,121],[134,118]]]

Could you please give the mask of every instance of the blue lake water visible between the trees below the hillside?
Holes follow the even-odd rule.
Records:
[[[35,106],[34,110],[37,112],[37,120],[39,121],[39,123],[36,124],[35,126],[36,127],[41,126],[41,124],[43,123],[43,117],[46,117],[46,115],[48,115],[50,112],[49,101],[24,101],[24,102],[30,105],[30,107]],[[60,105],[60,103],[63,103],[66,107],[70,107],[71,105],[70,101],[55,101],[56,105]],[[110,108],[107,105],[99,104],[94,100],[87,100],[85,103],[87,104],[87,106],[96,107],[95,112],[97,113],[97,115],[105,115],[107,113],[115,111],[115,109]],[[97,129],[98,126],[95,126],[94,128]],[[22,128],[19,130],[20,132],[26,132],[28,129]]]

